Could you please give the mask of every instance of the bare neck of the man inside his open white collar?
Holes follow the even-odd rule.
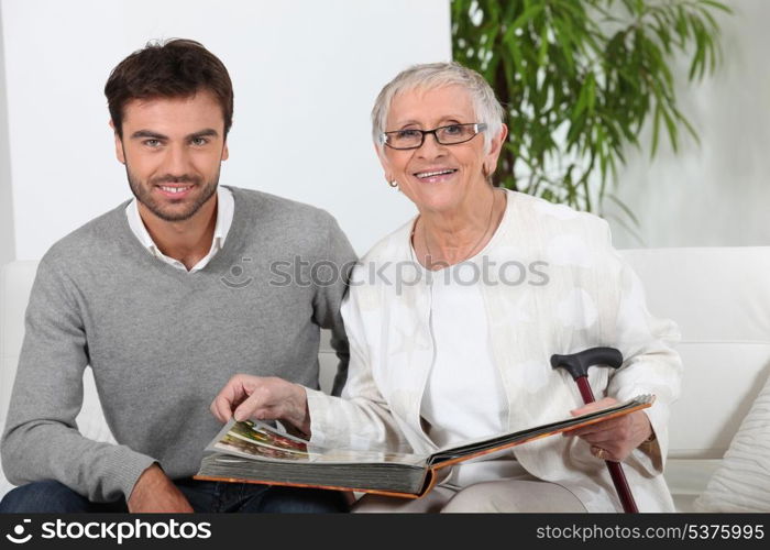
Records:
[[[213,194],[188,220],[166,221],[138,204],[147,233],[164,255],[182,262],[190,270],[211,250],[217,227],[217,194]]]

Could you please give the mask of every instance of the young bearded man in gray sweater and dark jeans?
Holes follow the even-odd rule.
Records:
[[[24,485],[0,512],[343,509],[334,492],[190,476],[221,428],[209,403],[234,373],[316,386],[323,327],[341,359],[341,388],[339,306],[355,261],[348,240],[321,210],[218,187],[232,85],[197,42],[135,52],[105,94],[135,198],[40,263],[1,444],[7,477]],[[306,284],[319,262],[338,276]],[[304,280],[271,277],[289,264]],[[119,444],[77,430],[87,365]]]

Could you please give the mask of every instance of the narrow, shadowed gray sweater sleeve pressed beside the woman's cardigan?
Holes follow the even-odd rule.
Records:
[[[328,267],[330,273],[319,274],[314,299],[314,320],[319,327],[331,329],[331,346],[339,360],[331,395],[340,395],[348,378],[350,360],[340,306],[348,290],[350,273],[358,257],[348,238],[331,216],[328,216],[324,243],[326,252],[320,258],[319,266]]]

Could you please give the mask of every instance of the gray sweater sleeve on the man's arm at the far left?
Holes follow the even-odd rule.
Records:
[[[2,466],[16,485],[55,480],[91,502],[128,498],[154,459],[78,431],[88,338],[76,295],[62,267],[44,257],[26,309]]]

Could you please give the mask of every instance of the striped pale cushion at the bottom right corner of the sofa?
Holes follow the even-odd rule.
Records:
[[[694,506],[697,512],[770,512],[770,377]]]

